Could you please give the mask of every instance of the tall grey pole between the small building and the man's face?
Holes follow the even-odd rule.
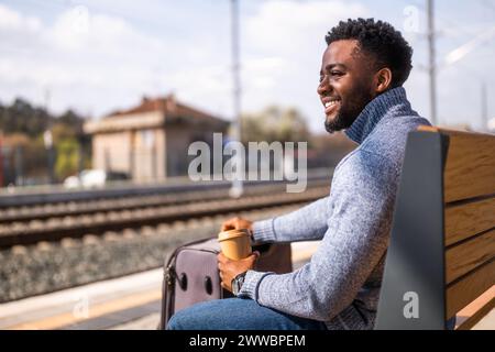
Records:
[[[233,78],[233,129],[232,138],[234,141],[241,142],[242,128],[241,128],[241,75],[240,75],[240,59],[239,59],[239,1],[231,0],[231,33],[232,33],[232,78]],[[235,155],[235,172],[238,175],[233,175],[232,187],[230,189],[230,196],[238,198],[243,193],[242,175],[240,167],[244,167],[240,163],[240,156]]]

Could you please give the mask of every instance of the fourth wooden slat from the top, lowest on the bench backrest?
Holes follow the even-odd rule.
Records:
[[[447,319],[495,285],[495,261],[474,270],[447,288]]]

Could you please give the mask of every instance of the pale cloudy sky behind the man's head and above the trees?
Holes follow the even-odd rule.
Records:
[[[239,0],[243,112],[295,107],[323,133],[316,94],[326,33],[340,20],[393,24],[414,48],[405,84],[430,119],[426,0]],[[0,102],[16,97],[92,119],[143,96],[233,117],[230,0],[0,0]],[[495,1],[436,0],[438,123],[495,118]],[[464,45],[464,46],[463,46]],[[468,53],[454,63],[455,50]],[[453,53],[453,54],[452,54]]]

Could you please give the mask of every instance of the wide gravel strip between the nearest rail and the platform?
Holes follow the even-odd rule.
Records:
[[[238,215],[273,218],[304,204],[227,212],[156,227],[106,232],[58,242],[15,245],[0,251],[0,304],[79,285],[163,267],[179,245],[216,237],[221,223]]]

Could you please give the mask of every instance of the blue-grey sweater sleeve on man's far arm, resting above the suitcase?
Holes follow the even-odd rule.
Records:
[[[318,199],[296,211],[253,223],[255,242],[317,241],[327,231],[329,197]]]

